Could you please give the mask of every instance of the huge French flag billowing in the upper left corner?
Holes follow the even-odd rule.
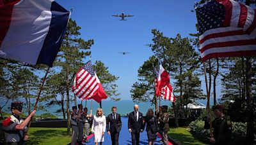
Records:
[[[53,0],[0,0],[0,57],[51,67],[69,15]]]

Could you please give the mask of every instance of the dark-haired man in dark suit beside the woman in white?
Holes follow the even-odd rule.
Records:
[[[109,125],[110,124],[110,125]],[[116,113],[116,107],[112,107],[112,113],[107,118],[107,130],[111,135],[112,145],[118,145],[119,132],[122,127],[120,114]]]

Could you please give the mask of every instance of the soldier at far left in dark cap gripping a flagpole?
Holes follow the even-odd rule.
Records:
[[[6,143],[8,144],[25,144],[28,141],[28,135],[25,135],[27,125],[31,118],[35,116],[36,111],[32,111],[29,116],[22,120],[20,114],[22,113],[22,102],[12,102],[11,104],[12,115],[3,121],[3,130]]]

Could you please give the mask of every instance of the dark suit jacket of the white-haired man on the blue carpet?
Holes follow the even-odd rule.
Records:
[[[128,129],[131,128],[132,132],[140,132],[140,130],[144,130],[143,128],[143,114],[139,112],[138,121],[136,121],[136,117],[134,111],[129,114],[128,118]]]

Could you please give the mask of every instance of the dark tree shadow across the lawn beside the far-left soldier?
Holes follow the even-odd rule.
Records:
[[[29,141],[27,144],[39,144],[51,137],[67,136],[65,130],[36,130],[29,133]]]

